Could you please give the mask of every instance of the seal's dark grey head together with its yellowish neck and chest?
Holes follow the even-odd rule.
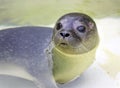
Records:
[[[52,41],[53,75],[56,82],[66,83],[93,63],[99,36],[91,17],[69,13],[56,22]]]

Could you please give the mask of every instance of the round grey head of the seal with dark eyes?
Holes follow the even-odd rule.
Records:
[[[62,52],[80,54],[95,47],[98,40],[96,35],[95,22],[89,16],[82,13],[69,13],[57,21],[53,41]]]

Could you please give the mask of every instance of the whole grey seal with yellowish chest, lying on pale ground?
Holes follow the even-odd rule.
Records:
[[[92,18],[69,13],[58,19],[54,28],[1,30],[0,66],[19,66],[39,82],[40,88],[58,88],[56,82],[69,82],[92,64],[98,42]]]

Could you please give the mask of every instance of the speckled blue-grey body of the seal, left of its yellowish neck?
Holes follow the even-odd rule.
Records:
[[[43,84],[42,88],[57,88],[46,55],[51,38],[52,28],[48,27],[26,26],[1,30],[0,65],[19,66]]]

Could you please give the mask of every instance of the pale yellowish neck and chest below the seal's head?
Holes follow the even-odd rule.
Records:
[[[58,83],[66,83],[80,76],[95,60],[97,46],[90,52],[80,55],[64,54],[53,49],[53,73]]]

